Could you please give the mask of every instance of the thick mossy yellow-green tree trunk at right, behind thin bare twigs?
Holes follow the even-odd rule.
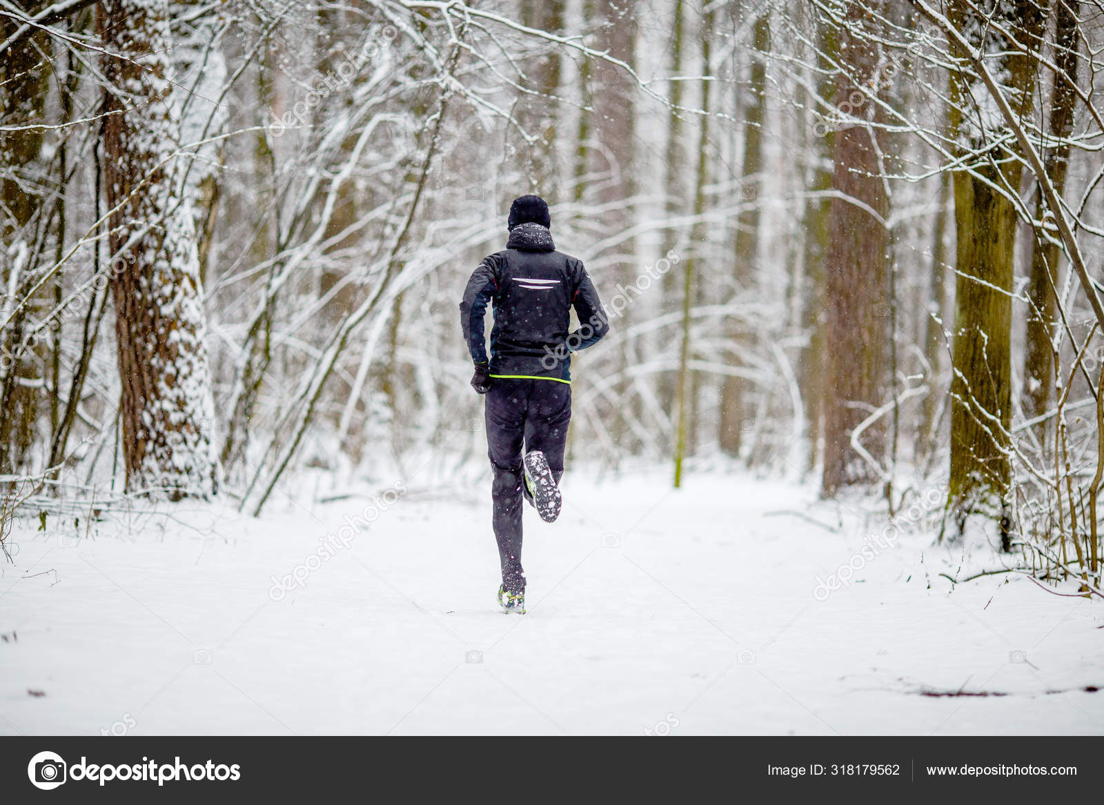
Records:
[[[1016,3],[998,11],[1001,25],[1029,49],[1042,33],[1042,10]],[[991,62],[990,70],[1006,84],[1013,112],[1030,114],[1036,62],[1019,55],[994,29],[980,27],[966,0],[955,0],[948,19]],[[984,31],[984,33],[983,33]],[[981,40],[981,36],[985,40]],[[966,54],[953,49],[953,55]],[[963,62],[965,64],[965,62]],[[1017,215],[1007,198],[1019,191],[1022,163],[1004,147],[989,144],[1007,131],[1000,121],[988,129],[974,127],[970,98],[984,95],[972,86],[973,71],[951,74],[951,124],[962,156],[980,156],[970,171],[955,173],[957,265],[955,300],[954,378],[951,383],[951,504],[962,527],[973,511],[999,513],[1004,547],[1008,548],[1011,462],[1011,298]],[[996,124],[996,125],[994,125]],[[969,151],[965,149],[969,148]],[[994,187],[996,186],[996,187]],[[1002,188],[1000,193],[996,188]]]

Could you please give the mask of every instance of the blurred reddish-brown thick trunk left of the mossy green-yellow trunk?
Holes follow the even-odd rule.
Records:
[[[853,27],[872,29],[884,3],[847,4]],[[840,34],[836,96],[877,92],[878,53],[869,41]],[[866,106],[870,106],[867,104]],[[866,109],[853,114],[861,115]],[[821,488],[832,495],[841,487],[878,479],[851,446],[852,431],[885,402],[887,272],[889,199],[880,178],[882,165],[874,129],[850,126],[836,133],[832,188],[840,197],[829,208],[826,262],[826,328],[824,386],[824,476]],[[858,203],[856,203],[858,202]],[[884,426],[869,427],[862,446],[875,458],[884,452]]]

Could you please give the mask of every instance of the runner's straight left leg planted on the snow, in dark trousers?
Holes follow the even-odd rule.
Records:
[[[492,525],[507,592],[526,590],[521,568],[521,441],[526,426],[528,385],[533,381],[495,380],[487,393],[487,456],[491,481]]]

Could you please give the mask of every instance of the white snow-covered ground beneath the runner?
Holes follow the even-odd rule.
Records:
[[[930,526],[882,549],[805,486],[569,473],[559,522],[527,511],[529,613],[505,616],[488,478],[376,491],[21,522],[0,733],[1104,732],[1102,605],[952,591],[997,560]],[[988,696],[932,696],[957,691]]]

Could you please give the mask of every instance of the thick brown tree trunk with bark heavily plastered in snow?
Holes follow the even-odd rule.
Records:
[[[127,88],[109,92],[104,109],[127,489],[206,496],[214,405],[194,220],[173,158],[166,3],[104,0],[99,30],[104,73]]]

